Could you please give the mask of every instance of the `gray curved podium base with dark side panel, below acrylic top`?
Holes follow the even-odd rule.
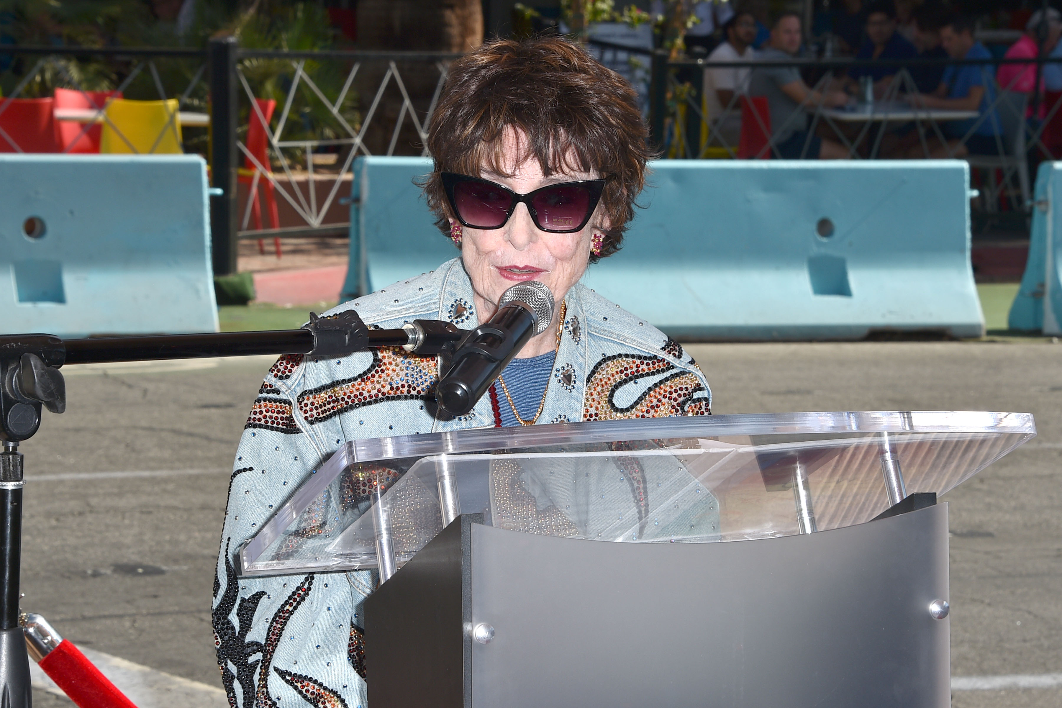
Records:
[[[473,521],[366,600],[372,708],[950,703],[948,620],[929,614],[948,599],[945,504],[725,543]],[[487,643],[472,639],[479,625]]]

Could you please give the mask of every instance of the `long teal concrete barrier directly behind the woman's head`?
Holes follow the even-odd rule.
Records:
[[[356,167],[347,296],[456,253],[419,158]],[[969,169],[940,161],[662,160],[615,256],[584,282],[686,340],[980,336]]]

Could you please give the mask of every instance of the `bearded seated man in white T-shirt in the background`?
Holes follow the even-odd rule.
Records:
[[[752,41],[756,38],[756,18],[739,12],[723,25],[726,41],[708,55],[708,64],[751,62],[756,58]],[[750,67],[718,67],[704,69],[704,98],[708,119],[718,121],[716,128],[727,144],[737,144],[741,133],[741,110],[735,96],[748,96]],[[723,114],[727,111],[725,116]]]

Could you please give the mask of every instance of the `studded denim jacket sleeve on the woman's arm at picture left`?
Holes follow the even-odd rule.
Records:
[[[311,705],[365,705],[361,605],[373,574],[237,577],[240,547],[327,453],[324,431],[308,432],[293,414],[294,393],[277,375],[295,379],[303,364],[285,360],[266,378],[229,479],[211,612],[218,666],[233,706],[297,706],[313,696],[331,702]]]

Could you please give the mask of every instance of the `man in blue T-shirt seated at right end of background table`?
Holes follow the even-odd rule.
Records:
[[[953,59],[990,59],[992,54],[974,39],[974,23],[969,17],[955,15],[940,31],[940,39]],[[949,120],[940,123],[947,137],[942,145],[936,136],[926,136],[931,157],[965,157],[967,154],[998,155],[999,114],[992,108],[995,101],[994,70],[991,64],[949,66],[944,70],[940,85],[932,93],[914,93],[908,100],[914,106],[952,110],[976,110],[977,118]],[[974,127],[976,125],[976,128]],[[974,128],[973,135],[961,141]],[[922,157],[919,137],[912,133],[908,157]],[[950,155],[949,155],[950,153]]]

